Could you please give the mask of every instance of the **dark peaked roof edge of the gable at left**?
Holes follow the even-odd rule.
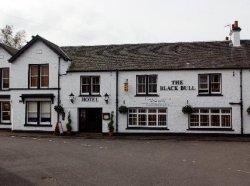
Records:
[[[9,62],[15,61],[20,55],[22,55],[29,47],[31,47],[36,41],[42,41],[46,46],[48,46],[52,51],[54,51],[56,54],[58,54],[60,57],[62,57],[65,61],[69,61],[70,58],[68,55],[56,44],[48,41],[47,39],[44,39],[43,37],[36,35],[33,36],[32,39],[23,46],[15,55],[13,55]]]

